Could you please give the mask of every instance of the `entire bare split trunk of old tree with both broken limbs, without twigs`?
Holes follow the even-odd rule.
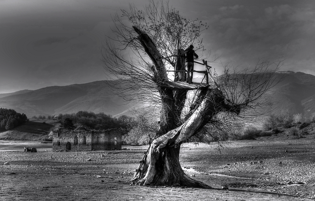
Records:
[[[136,27],[133,28],[139,34],[138,39],[154,64],[152,72],[154,81],[159,87],[162,110],[160,133],[158,133],[158,137],[152,141],[148,148],[137,168],[132,183],[210,188],[200,181],[189,178],[184,173],[179,162],[180,145],[198,133],[211,120],[213,115],[224,109],[222,105],[225,105],[225,98],[217,88],[199,93],[189,114],[184,119],[185,122],[181,123],[180,114],[184,107],[187,92],[182,90],[173,91],[159,86],[159,84],[169,81],[164,63],[160,60],[162,56],[146,33],[143,33]],[[183,68],[183,66],[179,68]]]

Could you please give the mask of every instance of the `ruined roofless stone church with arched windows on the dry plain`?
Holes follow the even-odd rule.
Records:
[[[60,128],[53,131],[53,151],[57,150],[115,150],[121,149],[122,134],[117,129],[90,131]]]

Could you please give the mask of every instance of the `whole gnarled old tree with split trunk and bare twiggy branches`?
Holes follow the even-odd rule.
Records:
[[[261,62],[253,70],[242,72],[226,65],[216,83],[209,85],[180,82],[185,77],[183,72],[176,72],[174,80],[170,80],[169,68],[185,70],[180,56],[184,48],[194,44],[202,55],[200,34],[207,25],[185,19],[167,3],[154,2],[144,10],[130,5],[130,11],[122,10],[122,15],[113,19],[116,38],[109,39],[102,51],[108,76],[116,77],[110,82],[113,92],[127,101],[146,104],[160,116],[159,127],[151,136],[132,183],[209,187],[183,172],[180,145],[204,134],[200,132],[204,127],[208,128],[208,135],[215,136],[233,122],[264,111],[259,109],[269,105],[265,94],[275,84],[272,75],[279,64],[269,71],[271,64]],[[189,90],[196,93],[191,102],[186,98]]]

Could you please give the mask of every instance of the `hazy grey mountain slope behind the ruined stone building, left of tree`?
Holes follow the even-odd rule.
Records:
[[[28,117],[58,115],[80,110],[116,115],[131,108],[123,98],[110,95],[106,81],[69,86],[49,86],[0,98],[0,107],[14,109]]]

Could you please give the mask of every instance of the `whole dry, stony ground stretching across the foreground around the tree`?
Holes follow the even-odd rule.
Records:
[[[313,137],[233,141],[221,153],[216,144],[183,144],[185,173],[215,189],[130,186],[146,146],[52,152],[37,144],[24,153],[2,142],[0,164],[10,165],[0,165],[0,200],[314,200]]]

